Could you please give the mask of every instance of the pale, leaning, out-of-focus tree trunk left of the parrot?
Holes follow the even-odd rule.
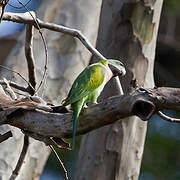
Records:
[[[101,0],[98,0],[96,3],[91,0],[76,0],[73,2],[70,0],[44,0],[37,12],[37,16],[44,21],[79,29],[95,45],[100,5]],[[61,100],[66,97],[74,78],[89,63],[90,53],[78,39],[57,32],[42,31],[49,53],[49,74],[47,83],[44,86],[44,98],[60,104]],[[44,71],[45,55],[44,46],[38,33],[35,33],[34,47],[36,74],[40,81],[43,74],[42,71]],[[27,76],[24,34],[7,58],[6,65]],[[9,72],[1,71],[1,77],[5,75],[9,78],[12,77],[12,74],[10,75]],[[19,77],[17,78],[19,79]],[[19,82],[25,85],[25,82],[21,80]],[[23,144],[23,134],[19,129],[7,125],[0,127],[1,132],[6,132],[9,129],[13,131],[13,137],[0,144],[0,179],[2,180],[7,180],[10,177]],[[31,139],[25,162],[17,179],[39,179],[48,155],[48,147],[39,141]]]

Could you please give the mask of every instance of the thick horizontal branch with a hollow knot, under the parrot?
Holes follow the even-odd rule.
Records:
[[[112,97],[93,105],[82,111],[77,134],[85,134],[132,115],[148,120],[154,113],[163,109],[180,110],[180,89],[139,89],[132,94]],[[46,137],[72,136],[72,113],[10,109],[0,113],[0,123]]]

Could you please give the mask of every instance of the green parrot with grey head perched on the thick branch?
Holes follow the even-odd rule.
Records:
[[[97,98],[105,84],[118,75],[125,75],[124,65],[118,60],[100,60],[87,66],[75,79],[69,94],[63,100],[63,106],[71,104],[73,110],[72,148],[75,145],[75,134],[78,117],[85,103],[97,103]]]

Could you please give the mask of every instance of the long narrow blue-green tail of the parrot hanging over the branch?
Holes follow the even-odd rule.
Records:
[[[72,135],[72,149],[75,148],[75,137],[76,137],[76,127],[78,124],[78,117],[83,107],[84,101],[78,101],[72,104],[73,110],[73,135]]]

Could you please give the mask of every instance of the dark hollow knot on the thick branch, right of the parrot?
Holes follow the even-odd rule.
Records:
[[[155,105],[147,100],[137,100],[133,104],[132,113],[138,116],[143,121],[147,121],[154,114]]]

